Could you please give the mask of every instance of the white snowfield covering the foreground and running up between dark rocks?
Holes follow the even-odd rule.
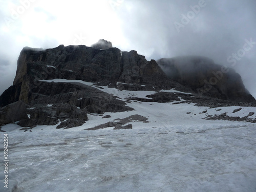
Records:
[[[120,99],[153,94],[102,88]],[[24,132],[16,124],[3,126],[9,142],[8,190],[256,191],[256,125],[202,119],[224,112],[231,116],[240,107],[217,112],[193,103],[127,105],[135,110],[105,113],[112,116],[107,119],[91,114],[82,126],[67,130],[56,130],[55,125]],[[249,112],[256,109],[242,107],[237,115]],[[135,114],[149,122],[130,122],[132,130],[84,130]],[[3,143],[4,133],[0,137]],[[0,151],[4,160],[3,144]],[[4,178],[3,163],[0,170]],[[0,191],[8,191],[3,186]]]

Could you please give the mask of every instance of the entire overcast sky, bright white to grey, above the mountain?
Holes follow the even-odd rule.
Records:
[[[23,47],[100,38],[148,60],[201,55],[233,67],[256,98],[255,0],[0,0],[0,94]],[[236,55],[234,55],[236,54]]]

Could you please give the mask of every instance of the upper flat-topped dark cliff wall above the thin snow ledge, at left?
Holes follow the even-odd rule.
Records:
[[[67,93],[76,90],[67,84],[49,85],[39,81],[56,78],[97,82],[105,86],[111,84],[113,87],[127,90],[160,90],[175,88],[178,85],[165,76],[155,60],[147,61],[136,51],[124,52],[121,55],[117,48],[98,50],[86,46],[61,45],[41,51],[26,47],[18,58],[13,86],[0,96],[0,106],[18,100],[24,100],[27,104],[34,103],[37,92],[53,96],[63,89]],[[116,82],[131,85],[120,86]],[[141,84],[145,86],[141,87]]]

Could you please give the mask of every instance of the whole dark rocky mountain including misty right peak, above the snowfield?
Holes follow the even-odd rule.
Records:
[[[87,114],[132,111],[127,104],[135,101],[194,102],[211,108],[254,106],[255,99],[246,92],[240,75],[229,69],[221,79],[212,76],[220,75],[222,67],[207,58],[163,58],[157,63],[110,44],[101,39],[94,48],[24,48],[13,85],[0,96],[0,125],[18,121],[23,127],[58,124],[57,128],[70,128],[85,123]],[[207,90],[204,82],[212,78],[218,82]],[[107,88],[150,94],[120,99]]]

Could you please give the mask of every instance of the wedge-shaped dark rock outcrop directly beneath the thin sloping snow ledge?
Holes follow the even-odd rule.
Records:
[[[117,97],[78,82],[38,81],[29,97],[30,105],[69,103],[90,113],[133,110]]]

